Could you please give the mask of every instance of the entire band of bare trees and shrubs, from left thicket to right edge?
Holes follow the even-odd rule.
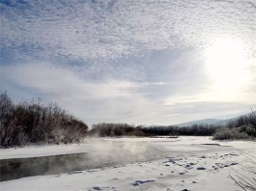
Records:
[[[69,144],[83,142],[86,137],[156,137],[213,136],[213,139],[255,139],[256,115],[251,114],[226,125],[193,124],[134,125],[98,123],[88,130],[86,123],[70,115],[57,103],[43,105],[41,100],[14,103],[6,92],[0,93],[0,147],[31,144]]]

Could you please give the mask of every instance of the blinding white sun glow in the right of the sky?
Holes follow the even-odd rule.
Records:
[[[237,89],[248,80],[245,45],[238,39],[219,39],[206,49],[206,68],[215,88]]]

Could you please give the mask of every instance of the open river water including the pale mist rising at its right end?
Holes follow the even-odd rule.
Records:
[[[111,143],[105,150],[90,153],[72,153],[33,158],[0,160],[0,181],[70,173],[73,171],[143,162],[165,155],[164,152],[144,145]],[[109,149],[110,148],[110,149]]]

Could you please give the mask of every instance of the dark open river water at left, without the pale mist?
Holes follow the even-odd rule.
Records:
[[[0,160],[0,181],[88,169],[86,153]]]

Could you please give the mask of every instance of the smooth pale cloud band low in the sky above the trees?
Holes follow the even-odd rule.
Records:
[[[154,90],[173,89],[166,82],[130,82],[107,79],[93,81],[84,78],[77,71],[49,63],[27,63],[17,66],[1,67],[2,79],[17,84],[23,89],[35,91],[43,100],[58,101],[71,114],[86,123],[143,123],[170,124],[204,117],[219,117],[238,114],[249,109],[248,104],[198,100],[198,95],[179,100],[175,95]],[[147,91],[145,91],[145,89]],[[181,88],[180,88],[181,89]],[[181,91],[177,89],[174,92]],[[148,93],[148,94],[147,94]],[[182,94],[182,93],[181,93]],[[197,99],[196,99],[197,98]],[[173,100],[167,104],[164,100]],[[190,100],[190,101],[189,101]],[[219,111],[221,108],[221,111]],[[232,110],[232,112],[230,111]]]

